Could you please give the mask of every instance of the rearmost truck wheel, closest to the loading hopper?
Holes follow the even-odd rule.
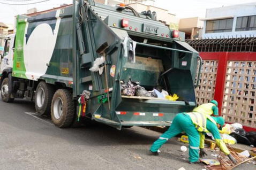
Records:
[[[67,89],[58,89],[51,101],[51,120],[60,128],[68,127],[74,118],[72,93]]]

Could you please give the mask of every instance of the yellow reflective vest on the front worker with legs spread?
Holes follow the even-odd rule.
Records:
[[[215,120],[207,114],[198,113],[198,112],[190,112],[190,113],[186,113],[186,114],[188,114],[190,116],[193,124],[195,125],[195,128],[197,128],[197,130],[199,132],[209,132],[206,128],[207,119],[209,119],[215,125],[217,125]]]

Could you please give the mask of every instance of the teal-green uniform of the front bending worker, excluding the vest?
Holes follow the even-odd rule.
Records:
[[[221,140],[219,129],[214,122],[209,119],[206,120],[206,130],[199,132],[196,128],[195,123],[192,121],[190,113],[178,113],[171,123],[169,129],[163,133],[158,140],[156,140],[150,148],[150,151],[156,152],[169,138],[174,137],[182,132],[185,132],[189,137],[189,160],[191,162],[198,161],[199,159],[199,146],[204,148],[205,132],[213,134],[216,144],[220,146],[220,149],[225,153],[229,154],[227,146]]]

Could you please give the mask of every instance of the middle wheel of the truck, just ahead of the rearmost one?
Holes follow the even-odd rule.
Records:
[[[35,92],[35,110],[40,115],[49,115],[51,110],[51,99],[54,95],[54,87],[41,81]]]

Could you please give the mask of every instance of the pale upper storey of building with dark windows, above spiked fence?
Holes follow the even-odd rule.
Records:
[[[206,10],[202,38],[256,36],[256,2]]]

